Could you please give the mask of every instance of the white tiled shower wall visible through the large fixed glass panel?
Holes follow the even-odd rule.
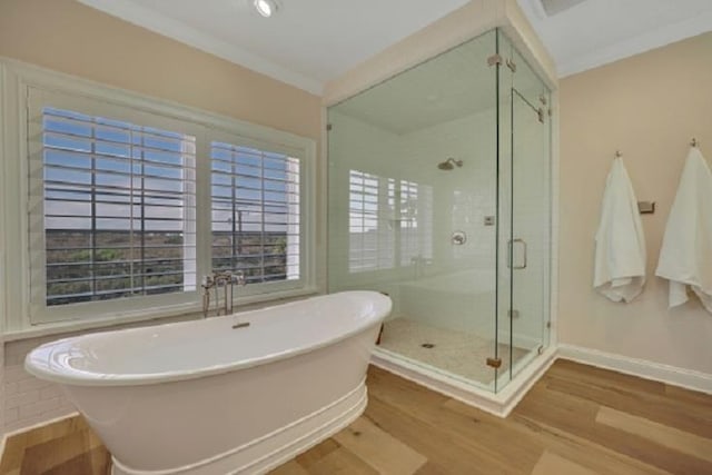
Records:
[[[387,291],[394,299],[394,316],[494,338],[495,227],[484,225],[485,216],[495,214],[494,111],[406,131],[366,123],[334,110],[329,112],[329,122],[333,125],[329,132],[330,290]],[[437,165],[449,157],[463,160],[463,167],[439,170]],[[432,222],[423,229],[431,236],[421,239],[421,244],[428,244],[422,255],[432,256],[432,261],[419,269],[400,261],[367,271],[349,271],[349,205],[348,192],[344,191],[348,187],[349,170],[406,180],[417,184],[421,190],[429,190],[418,195],[418,201],[429,196],[432,202],[418,202],[418,207],[432,209]],[[378,226],[386,226],[385,220]],[[452,244],[455,230],[466,232],[465,245]],[[457,273],[466,274],[461,278]],[[447,281],[443,280],[444,276]],[[427,307],[434,306],[435,310],[429,311],[418,303],[408,305],[407,295],[413,294],[425,298]],[[414,310],[423,315],[414,315]]]

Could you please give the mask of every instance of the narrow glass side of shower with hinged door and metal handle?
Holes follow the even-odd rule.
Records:
[[[502,33],[496,390],[548,345],[551,123],[546,86]]]

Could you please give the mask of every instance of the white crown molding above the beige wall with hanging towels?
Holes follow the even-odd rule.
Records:
[[[712,11],[557,63],[564,78],[712,30]]]

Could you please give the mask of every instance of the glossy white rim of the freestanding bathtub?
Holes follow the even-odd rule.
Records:
[[[240,369],[249,369],[257,366],[267,365],[270,363],[293,358],[293,357],[296,357],[306,353],[310,353],[330,345],[338,344],[358,334],[367,331],[374,326],[380,325],[393,309],[393,300],[380,293],[372,291],[372,290],[352,290],[352,291],[327,294],[323,296],[310,297],[305,300],[291,301],[287,304],[278,304],[278,305],[268,306],[268,307],[264,307],[256,310],[248,310],[248,311],[245,311],[243,315],[249,314],[250,311],[265,311],[265,310],[270,310],[276,308],[290,307],[294,305],[303,304],[310,299],[325,298],[329,296],[336,296],[339,294],[369,294],[379,298],[382,301],[385,303],[385,305],[383,307],[380,305],[376,306],[375,308],[376,311],[374,313],[374,315],[369,315],[368,318],[365,318],[363,325],[350,328],[348,331],[339,333],[333,338],[317,340],[316,343],[310,345],[303,345],[295,348],[288,348],[284,352],[271,353],[260,357],[247,358],[247,359],[241,359],[238,362],[231,362],[231,363],[221,364],[221,365],[205,366],[205,367],[191,369],[191,370],[182,369],[182,370],[169,370],[169,372],[145,373],[145,374],[95,373],[95,372],[77,369],[67,364],[59,366],[57,363],[52,360],[51,356],[52,356],[52,350],[56,349],[57,346],[67,345],[76,340],[88,339],[97,335],[107,335],[111,333],[126,333],[126,334],[140,333],[140,331],[146,331],[148,328],[151,328],[151,327],[181,326],[187,324],[195,324],[196,321],[200,321],[200,320],[177,321],[177,323],[138,327],[138,328],[125,328],[120,330],[100,331],[95,334],[78,335],[78,336],[61,338],[58,340],[46,343],[32,349],[30,353],[28,353],[27,357],[24,358],[23,366],[26,372],[28,372],[29,374],[31,374],[37,378],[66,385],[66,386],[82,386],[82,387],[127,386],[129,387],[129,386],[148,386],[148,385],[158,385],[158,384],[167,384],[167,383],[177,383],[177,382],[190,380],[190,379],[199,379],[204,377],[218,376],[218,375],[233,373]],[[234,314],[225,317],[216,317],[216,318],[235,318],[236,316],[239,317],[240,314],[238,313],[238,314]],[[32,358],[31,357],[32,355],[41,355],[41,357]]]

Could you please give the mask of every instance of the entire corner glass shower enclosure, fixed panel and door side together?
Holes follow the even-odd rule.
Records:
[[[328,290],[377,352],[501,390],[548,345],[550,91],[500,30],[328,109]]]

